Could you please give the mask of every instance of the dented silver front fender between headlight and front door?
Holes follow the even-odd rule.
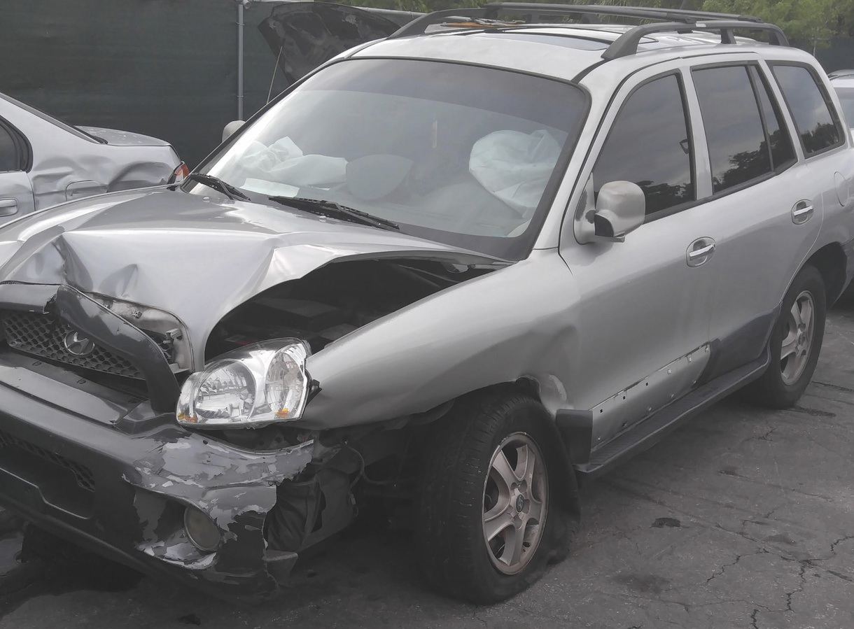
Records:
[[[321,390],[300,425],[337,428],[406,416],[519,379],[535,381],[554,413],[572,378],[576,305],[575,283],[554,252],[535,252],[433,294],[308,358]]]

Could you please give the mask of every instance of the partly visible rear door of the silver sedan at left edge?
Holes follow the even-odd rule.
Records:
[[[0,118],[0,224],[35,209],[29,164],[26,139]]]

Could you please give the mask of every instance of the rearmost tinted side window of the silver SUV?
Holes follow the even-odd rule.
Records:
[[[810,155],[841,143],[839,124],[812,73],[802,66],[772,68],[795,119],[804,152]]]

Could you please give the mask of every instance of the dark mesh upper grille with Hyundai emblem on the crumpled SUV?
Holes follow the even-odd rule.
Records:
[[[9,310],[2,316],[6,342],[15,350],[114,376],[143,377],[132,363],[97,344],[86,356],[68,352],[65,340],[74,330],[51,315]]]

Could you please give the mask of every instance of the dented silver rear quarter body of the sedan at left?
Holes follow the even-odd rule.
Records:
[[[19,201],[14,214],[0,208],[0,222],[84,196],[166,183],[180,163],[169,143],[157,138],[81,127],[107,142],[100,143],[2,95],[0,119],[26,137],[32,152],[26,172],[0,172],[0,199]]]

